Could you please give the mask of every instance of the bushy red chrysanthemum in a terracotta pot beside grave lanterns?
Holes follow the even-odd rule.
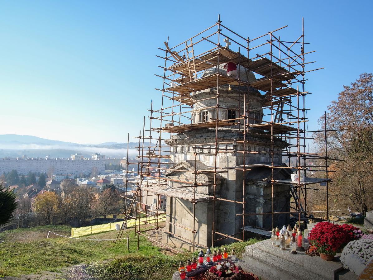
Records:
[[[348,233],[339,225],[321,222],[310,231],[308,240],[319,251],[320,257],[332,261],[335,254],[341,252],[344,245],[349,242]]]

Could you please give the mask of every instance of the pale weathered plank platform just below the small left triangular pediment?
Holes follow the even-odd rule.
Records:
[[[165,195],[169,197],[175,197],[193,201],[194,192],[187,191],[186,189],[175,189],[169,186],[141,186],[142,191],[153,192],[154,194]],[[195,193],[195,201],[210,201],[213,199],[211,195]]]

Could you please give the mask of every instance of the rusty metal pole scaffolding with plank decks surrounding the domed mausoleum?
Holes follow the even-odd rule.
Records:
[[[162,246],[164,245],[159,241],[159,231],[172,234],[186,243],[192,245],[193,251],[195,247],[206,248],[202,244],[195,241],[196,219],[195,207],[198,202],[211,201],[213,204],[213,219],[212,223],[212,246],[216,242],[223,239],[232,239],[235,241],[245,240],[245,230],[249,230],[245,224],[245,217],[250,215],[272,215],[272,227],[274,226],[274,215],[276,214],[289,214],[297,217],[299,226],[301,220],[305,223],[308,222],[311,211],[311,205],[307,203],[307,192],[311,192],[314,184],[326,183],[326,195],[328,196],[328,182],[331,180],[328,177],[328,157],[327,150],[325,154],[308,152],[308,140],[313,139],[308,136],[308,133],[315,131],[307,131],[307,111],[306,108],[306,95],[311,94],[305,90],[305,74],[314,70],[305,70],[305,66],[314,63],[314,61],[306,62],[307,54],[314,51],[305,51],[305,46],[309,43],[304,41],[304,23],[302,19],[302,32],[295,41],[284,41],[280,38],[280,32],[287,26],[267,32],[256,38],[242,37],[232,29],[226,27],[220,21],[215,22],[209,28],[204,29],[197,35],[183,41],[173,47],[169,47],[169,39],[164,42],[164,47],[158,49],[162,51],[162,55],[157,55],[162,59],[163,65],[159,67],[163,70],[163,74],[157,75],[161,78],[162,88],[156,88],[159,92],[160,108],[154,109],[153,102],[151,102],[150,115],[148,122],[145,122],[142,130],[140,130],[138,138],[138,155],[137,163],[131,163],[128,160],[126,163],[126,174],[133,173],[129,170],[131,164],[137,165],[136,188],[134,189],[134,196],[132,198],[125,198],[129,205],[126,206],[125,222],[130,217],[138,220],[141,215],[145,218],[155,218],[156,224],[147,224],[145,221],[145,229],[140,229],[140,223],[135,226],[135,232],[138,235],[145,235],[144,232],[149,230],[156,230],[155,239],[150,238]],[[284,37],[284,36],[283,36]],[[222,40],[223,39],[223,40]],[[225,45],[225,46],[224,46]],[[296,51],[300,49],[300,52]],[[222,66],[228,62],[233,62],[237,65],[238,75],[228,76],[222,71]],[[245,67],[251,71],[255,79],[254,81],[245,81],[240,77],[240,67]],[[209,69],[215,67],[216,71]],[[248,75],[248,74],[247,74]],[[241,78],[241,79],[240,79]],[[231,86],[238,86],[238,99],[223,95],[219,92],[221,85],[229,84]],[[247,90],[243,90],[246,87]],[[193,97],[195,92],[205,89],[215,88],[216,94],[211,97],[197,100],[213,100],[216,103],[204,109],[216,110],[215,118],[205,118],[198,122],[189,117],[190,113],[196,104]],[[254,114],[254,110],[250,109],[250,100],[248,98],[249,88],[257,89],[261,92],[261,97],[256,101],[263,104],[263,116]],[[226,119],[219,118],[219,106],[222,98],[231,98],[232,102],[236,103],[237,113],[231,114]],[[243,103],[243,104],[242,104]],[[149,128],[145,129],[145,123],[149,124]],[[241,138],[226,139],[219,138],[218,129],[228,127],[235,128],[240,133]],[[193,152],[194,170],[179,170],[172,169],[174,160],[174,149],[178,149],[178,145],[166,145],[163,141],[171,138],[172,135],[178,133],[198,130],[210,129],[214,130],[214,141],[204,143],[209,145],[209,148],[203,149],[198,145],[182,145],[188,147],[188,152]],[[254,129],[254,130],[253,130]],[[253,132],[254,131],[254,132]],[[325,148],[326,148],[326,117],[324,130],[317,130],[325,132]],[[266,135],[270,137],[270,150],[269,151],[251,151],[248,145],[247,134],[257,133],[258,135]],[[282,150],[275,150],[275,141],[284,141],[288,143]],[[145,142],[144,142],[145,141]],[[128,136],[129,142],[129,136]],[[155,144],[154,144],[155,143]],[[235,145],[234,148],[228,148],[229,145]],[[179,146],[180,147],[180,146]],[[223,147],[223,148],[222,148]],[[128,149],[127,149],[128,151]],[[222,153],[236,153],[242,154],[243,164],[240,166],[228,166],[221,168],[217,166],[217,156]],[[271,163],[267,164],[247,164],[245,158],[248,154],[267,153],[271,159]],[[209,154],[214,158],[214,163],[208,169],[199,169],[197,164],[198,155]],[[288,158],[287,166],[279,166],[275,164],[275,155],[282,158]],[[323,160],[325,165],[313,166],[310,165],[310,160]],[[247,213],[245,208],[245,173],[250,171],[253,167],[264,166],[271,170],[270,186],[272,189],[272,211],[267,213]],[[275,170],[289,169],[298,173],[298,182],[292,180],[278,180],[275,179]],[[241,170],[243,176],[242,185],[242,200],[231,200],[217,195],[216,187],[217,180],[220,174],[228,172],[229,169]],[[309,174],[310,171],[323,173],[325,176],[305,177],[304,182],[301,182],[301,173]],[[194,174],[194,181],[175,180],[164,176],[165,172],[191,172]],[[208,184],[213,188],[213,195],[201,194],[197,192],[197,188],[206,186],[203,183],[197,182],[197,175],[209,173],[213,174],[213,182]],[[185,188],[193,188],[193,191],[186,191],[182,188],[170,188],[167,184],[171,181],[182,183]],[[126,175],[126,193],[128,188],[129,179]],[[289,185],[292,199],[290,211],[275,212],[273,207],[273,189],[276,184]],[[146,197],[144,201],[144,194]],[[147,211],[150,205],[148,204],[149,193],[156,196],[157,206],[151,211]],[[153,196],[154,196],[153,195]],[[161,209],[159,205],[160,197],[167,196],[168,198],[179,198],[189,201],[193,206],[193,221],[189,227],[182,226],[181,224],[167,221],[166,219],[159,218]],[[216,202],[226,204],[240,204],[242,205],[242,231],[235,232],[233,235],[217,232],[214,227],[216,215]],[[326,198],[328,203],[328,197]],[[134,206],[135,205],[135,206]],[[135,207],[135,214],[131,213]],[[143,209],[145,207],[145,210]],[[327,217],[329,217],[329,205],[327,204]],[[169,232],[159,226],[159,222],[172,224],[175,227],[182,227],[193,233],[193,239],[189,240],[182,236],[177,236],[175,233]],[[147,228],[149,226],[149,228]],[[117,240],[119,240],[125,232],[123,227],[118,233]],[[146,235],[145,235],[146,236]],[[166,246],[171,250],[171,248]]]

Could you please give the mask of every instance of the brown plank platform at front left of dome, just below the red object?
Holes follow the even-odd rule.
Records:
[[[194,91],[213,88],[217,86],[217,76],[219,75],[219,85],[228,84],[237,81],[232,77],[221,75],[221,73],[214,73],[202,78],[194,79],[193,81],[186,82],[177,86],[166,88],[167,91],[176,91],[180,94],[187,94]]]

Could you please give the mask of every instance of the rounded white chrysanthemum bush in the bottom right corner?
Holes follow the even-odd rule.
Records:
[[[360,275],[372,259],[373,240],[370,239],[359,239],[347,243],[341,254],[343,267],[353,271],[356,275]]]

